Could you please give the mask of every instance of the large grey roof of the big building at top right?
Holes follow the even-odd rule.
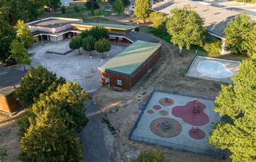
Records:
[[[196,10],[198,14],[204,18],[204,25],[206,26],[207,31],[213,33],[219,38],[224,37],[223,30],[226,28],[227,23],[230,22],[235,15],[240,14],[239,12],[217,8],[211,5],[206,5],[205,3],[184,0],[163,1],[153,4],[152,9],[170,15],[170,10],[173,8],[182,8],[184,5],[188,4],[191,6],[191,9]],[[254,21],[256,20],[256,17],[250,17]]]

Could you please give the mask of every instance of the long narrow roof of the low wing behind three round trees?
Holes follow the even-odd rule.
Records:
[[[117,24],[104,24],[104,23],[72,23],[71,25],[104,26],[105,28],[117,29],[117,30],[132,30],[132,29],[138,28],[138,26],[117,25]]]

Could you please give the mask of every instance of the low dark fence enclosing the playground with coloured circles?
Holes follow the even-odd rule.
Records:
[[[197,147],[174,144],[174,143],[170,143],[170,142],[166,142],[166,141],[162,141],[162,140],[156,140],[156,139],[151,139],[151,138],[140,137],[140,136],[134,135],[133,132],[134,132],[134,130],[136,130],[136,128],[138,126],[138,123],[139,123],[139,120],[140,120],[140,118],[142,118],[142,115],[143,115],[147,105],[149,104],[150,99],[152,98],[154,92],[163,92],[163,93],[170,93],[170,94],[173,94],[173,95],[190,96],[190,97],[197,97],[197,98],[210,99],[210,100],[215,99],[215,96],[201,96],[199,94],[191,94],[191,93],[188,95],[188,94],[173,91],[173,90],[167,90],[167,89],[161,89],[159,87],[158,88],[153,87],[153,89],[150,93],[150,96],[146,100],[146,103],[145,104],[139,104],[139,109],[141,109],[142,111],[139,113],[139,116],[138,116],[136,122],[134,123],[130,133],[129,133],[128,138],[130,140],[140,141],[140,142],[148,143],[148,144],[159,145],[159,146],[163,146],[163,147],[169,147],[171,149],[176,149],[176,150],[188,151],[188,152],[193,152],[193,153],[200,153],[200,154],[204,154],[206,156],[212,156],[212,157],[217,157],[217,158],[225,158],[224,150],[220,150],[220,149],[204,150],[204,149],[200,149],[200,148],[197,148]]]

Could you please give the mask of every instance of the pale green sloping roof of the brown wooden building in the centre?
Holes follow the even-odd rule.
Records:
[[[123,73],[130,76],[160,47],[161,44],[158,43],[137,40],[130,46],[127,46],[127,48],[117,56],[100,66],[99,69]]]

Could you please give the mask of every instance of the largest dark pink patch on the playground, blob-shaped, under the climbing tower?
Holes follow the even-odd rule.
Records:
[[[205,104],[199,102],[198,107],[200,113],[193,112],[193,101],[188,102],[183,106],[175,106],[172,108],[172,114],[178,118],[181,118],[185,123],[196,126],[203,126],[209,122],[209,117],[203,111],[206,106]]]

